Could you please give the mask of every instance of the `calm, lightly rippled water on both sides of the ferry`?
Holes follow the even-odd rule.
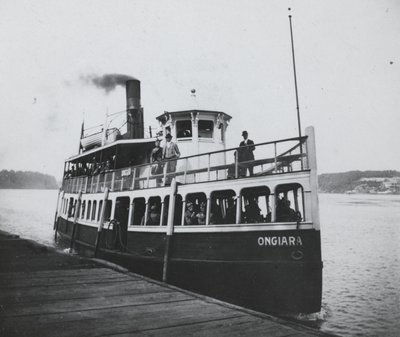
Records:
[[[0,190],[0,229],[54,246],[57,191]],[[400,196],[320,195],[323,309],[342,336],[400,336]]]

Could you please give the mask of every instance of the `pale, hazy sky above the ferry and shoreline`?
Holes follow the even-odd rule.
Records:
[[[296,137],[288,8],[319,173],[400,170],[398,0],[1,0],[0,170],[60,179],[82,121],[126,108],[106,74],[141,81],[146,127],[197,107],[233,117],[228,147]]]

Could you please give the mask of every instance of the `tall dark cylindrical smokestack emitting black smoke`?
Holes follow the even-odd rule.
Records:
[[[126,138],[144,138],[143,108],[140,106],[140,81],[126,81]]]

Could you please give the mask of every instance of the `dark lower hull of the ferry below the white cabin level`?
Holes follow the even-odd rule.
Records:
[[[72,227],[59,218],[58,231],[68,242]],[[96,234],[94,227],[77,225],[74,247],[93,255]],[[164,233],[128,232],[126,249],[118,248],[114,234],[103,230],[98,257],[161,280]],[[257,240],[266,236],[300,237],[302,245],[260,245]],[[319,231],[176,233],[171,244],[170,284],[266,313],[321,308]]]

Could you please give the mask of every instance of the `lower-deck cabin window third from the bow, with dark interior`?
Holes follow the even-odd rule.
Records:
[[[210,225],[236,223],[236,194],[233,190],[211,193]]]

